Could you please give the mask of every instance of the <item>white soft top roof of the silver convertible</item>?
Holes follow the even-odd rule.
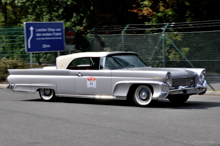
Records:
[[[135,52],[82,52],[69,55],[63,55],[56,58],[57,69],[66,69],[70,62],[76,58],[82,57],[105,57],[110,54],[136,54]]]

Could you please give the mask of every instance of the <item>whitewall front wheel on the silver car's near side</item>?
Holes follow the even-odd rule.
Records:
[[[140,85],[134,92],[133,100],[138,106],[147,106],[152,100],[152,91],[146,85]]]

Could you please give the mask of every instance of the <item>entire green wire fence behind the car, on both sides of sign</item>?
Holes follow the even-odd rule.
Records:
[[[92,34],[88,41],[92,51],[135,51],[152,67],[206,68],[207,80],[220,90],[220,31],[165,32],[126,34]],[[125,34],[124,34],[125,33]],[[68,52],[62,52],[67,54]],[[17,55],[30,61],[25,52],[23,27],[0,28],[0,58]],[[55,64],[56,52],[33,53],[33,62]]]

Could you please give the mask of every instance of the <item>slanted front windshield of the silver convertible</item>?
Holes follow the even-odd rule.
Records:
[[[136,55],[113,55],[106,57],[105,68],[107,69],[136,67],[146,67],[146,65]]]

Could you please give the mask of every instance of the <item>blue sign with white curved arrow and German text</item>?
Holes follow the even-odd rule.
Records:
[[[24,23],[26,52],[64,51],[63,22]]]

